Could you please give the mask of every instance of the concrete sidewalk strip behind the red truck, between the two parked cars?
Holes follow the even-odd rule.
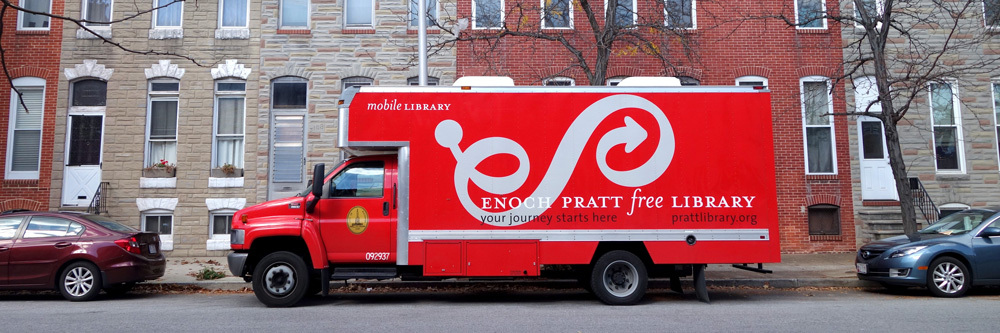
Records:
[[[705,271],[709,286],[726,287],[864,287],[871,286],[869,282],[858,280],[854,271],[854,252],[834,254],[784,254],[780,263],[764,264],[764,269],[773,271],[761,274],[733,268],[730,265],[709,265]],[[756,268],[757,265],[751,264]],[[205,269],[225,273],[226,277],[214,280],[198,280],[197,273]],[[690,277],[686,278],[690,283]],[[441,282],[407,282],[407,281],[350,281],[348,284],[381,285],[386,287],[417,287],[435,285],[446,287],[464,285],[462,279],[452,279]],[[478,282],[477,282],[478,283]],[[545,282],[542,282],[544,284]],[[166,274],[145,284],[181,287],[199,287],[208,290],[251,290],[250,283],[243,278],[234,277],[229,272],[224,257],[176,257],[167,258]],[[567,285],[567,281],[551,281],[554,287]],[[331,286],[343,285],[333,281]],[[654,281],[651,287],[665,287],[661,281]]]

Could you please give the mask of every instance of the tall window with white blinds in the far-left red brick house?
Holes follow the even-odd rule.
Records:
[[[22,77],[13,80],[10,90],[10,124],[7,131],[7,179],[38,179],[41,163],[42,121],[45,119],[45,80]],[[28,108],[25,109],[25,106]]]

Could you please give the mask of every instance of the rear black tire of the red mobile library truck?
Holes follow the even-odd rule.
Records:
[[[605,253],[590,274],[591,291],[608,305],[638,303],[646,295],[648,283],[646,265],[628,251]]]

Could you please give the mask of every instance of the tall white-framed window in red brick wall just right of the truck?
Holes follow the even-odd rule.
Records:
[[[835,174],[833,96],[829,80],[802,79],[802,120],[805,132],[806,174]]]

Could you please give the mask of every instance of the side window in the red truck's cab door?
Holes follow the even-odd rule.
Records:
[[[330,182],[330,198],[382,197],[385,166],[381,161],[348,166]]]

